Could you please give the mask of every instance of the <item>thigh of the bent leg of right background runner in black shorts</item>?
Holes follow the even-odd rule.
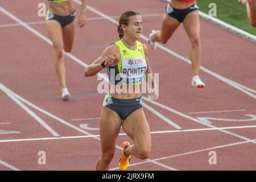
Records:
[[[166,42],[174,34],[180,22],[172,16],[164,13],[160,39]]]

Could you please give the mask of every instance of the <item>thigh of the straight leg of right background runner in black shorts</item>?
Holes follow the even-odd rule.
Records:
[[[199,10],[189,13],[184,21],[183,26],[189,38],[199,38],[200,36],[200,19]]]

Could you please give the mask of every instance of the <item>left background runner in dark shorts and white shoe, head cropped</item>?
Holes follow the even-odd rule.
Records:
[[[64,53],[71,52],[75,38],[75,7],[72,0],[48,0],[49,10],[46,15],[46,27],[55,49],[55,71],[60,82],[61,98],[70,96],[66,86]],[[82,0],[79,16],[80,28],[86,24],[86,0]]]

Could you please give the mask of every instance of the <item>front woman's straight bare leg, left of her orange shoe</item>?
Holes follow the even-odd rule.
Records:
[[[97,171],[109,169],[109,164],[115,153],[115,143],[121,124],[121,118],[115,111],[108,107],[102,107],[100,119],[101,157],[97,162]]]

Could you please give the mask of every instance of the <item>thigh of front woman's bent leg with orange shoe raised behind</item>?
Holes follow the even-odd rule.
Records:
[[[150,126],[148,125],[143,107],[134,111],[123,121],[122,128],[138,146],[151,146]]]

